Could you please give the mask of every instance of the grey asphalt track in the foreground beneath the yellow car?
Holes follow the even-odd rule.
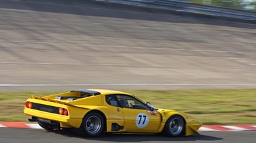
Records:
[[[255,132],[202,132],[201,135],[186,136],[180,138],[169,138],[159,135],[149,134],[103,134],[99,138],[84,138],[78,136],[75,132],[54,131],[38,129],[15,129],[0,128],[0,142],[10,143],[41,143],[41,142],[148,142],[148,143],[165,143],[165,142],[255,142]]]

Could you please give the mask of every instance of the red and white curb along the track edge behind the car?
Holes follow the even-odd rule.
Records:
[[[39,124],[31,124],[28,122],[0,122],[0,128],[31,128],[42,129]],[[222,126],[222,125],[205,125],[199,128],[199,132],[205,131],[256,131],[256,126],[253,125],[236,125],[236,126]]]

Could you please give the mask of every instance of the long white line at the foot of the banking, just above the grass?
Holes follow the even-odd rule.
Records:
[[[256,83],[226,83],[226,84],[0,84],[0,87],[48,87],[48,86],[215,86],[215,85],[256,85]]]

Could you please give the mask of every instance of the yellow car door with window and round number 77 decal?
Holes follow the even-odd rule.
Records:
[[[127,132],[154,133],[159,130],[161,115],[156,110],[130,95],[116,95],[124,114]]]

